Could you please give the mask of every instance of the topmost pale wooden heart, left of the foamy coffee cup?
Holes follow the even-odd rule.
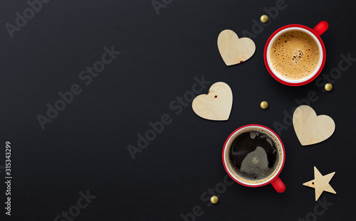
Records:
[[[219,34],[218,48],[224,63],[230,66],[251,58],[256,45],[250,38],[239,38],[234,31],[226,29]]]

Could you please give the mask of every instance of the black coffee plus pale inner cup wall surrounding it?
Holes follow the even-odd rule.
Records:
[[[276,136],[264,129],[245,129],[235,134],[227,148],[229,170],[246,183],[262,183],[281,168],[281,146]]]

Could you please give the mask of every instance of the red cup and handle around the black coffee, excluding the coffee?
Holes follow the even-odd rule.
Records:
[[[236,170],[231,166],[229,160],[229,151],[232,142],[234,141],[234,139],[236,139],[237,136],[239,136],[240,134],[244,134],[245,132],[248,131],[256,131],[256,132],[266,134],[268,137],[273,139],[274,143],[276,144],[276,148],[278,150],[277,153],[278,161],[276,161],[276,163],[278,164],[276,165],[276,168],[274,169],[273,173],[271,173],[271,175],[269,175],[266,178],[263,178],[262,180],[248,180],[243,176],[239,176]],[[279,173],[281,173],[282,168],[284,166],[284,161],[286,160],[286,153],[284,150],[284,146],[279,136],[266,126],[262,126],[259,124],[248,124],[245,126],[241,126],[239,129],[236,129],[234,132],[232,132],[225,141],[224,149],[222,152],[222,160],[223,160],[224,168],[226,172],[229,174],[229,176],[241,185],[245,185],[248,187],[260,187],[263,185],[267,185],[268,183],[271,183],[278,193],[283,193],[284,190],[286,190],[286,185],[284,185],[281,178],[278,177]]]

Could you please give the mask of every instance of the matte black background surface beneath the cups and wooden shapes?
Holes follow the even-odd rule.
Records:
[[[162,2],[161,0],[157,0]],[[356,58],[355,1],[285,1],[275,19],[252,38],[256,53],[241,65],[226,67],[216,45],[224,29],[252,32],[263,8],[276,1],[164,1],[156,14],[151,1],[49,1],[11,38],[6,23],[15,24],[16,11],[26,1],[0,1],[0,166],[5,164],[5,141],[11,141],[11,217],[4,220],[55,220],[77,204],[79,192],[95,195],[74,220],[183,220],[198,205],[195,220],[353,220],[355,219],[355,67],[333,80],[288,87],[274,80],[263,63],[268,36],[290,23],[313,28],[328,21],[321,38],[326,48],[322,75],[330,74],[350,53]],[[90,85],[78,78],[87,66],[101,60],[104,47],[114,45],[120,55]],[[234,93],[226,122],[197,117],[191,102],[182,113],[169,104],[192,90],[194,77],[229,84]],[[321,76],[321,75],[320,75]],[[46,104],[58,92],[78,84],[83,90],[56,119],[41,129],[36,116],[46,115]],[[285,193],[271,185],[246,188],[234,183],[207,206],[201,195],[223,182],[221,162],[225,139],[239,126],[263,124],[276,131],[284,112],[310,102],[317,114],[336,124],[330,139],[301,146],[293,126],[281,131],[286,164],[281,179]],[[261,101],[270,104],[259,107]],[[165,126],[142,153],[130,156],[137,134],[169,114]],[[289,119],[287,119],[289,121]],[[313,166],[326,175],[336,195],[323,193],[328,210],[317,206],[315,191],[302,183],[314,177]],[[4,170],[0,170],[0,200],[5,203]],[[313,214],[312,214],[313,213]],[[3,218],[1,218],[2,220]],[[189,220],[194,220],[192,217]],[[63,218],[57,219],[65,220]]]

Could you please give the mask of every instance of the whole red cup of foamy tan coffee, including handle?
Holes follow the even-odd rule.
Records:
[[[325,64],[325,46],[320,36],[327,29],[326,21],[320,21],[313,29],[297,24],[279,28],[265,46],[263,57],[268,72],[285,85],[313,81]]]

